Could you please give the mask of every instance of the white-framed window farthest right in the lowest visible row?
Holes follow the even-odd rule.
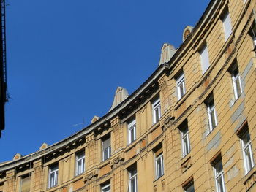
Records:
[[[255,165],[252,157],[252,142],[249,137],[248,129],[246,130],[244,135],[241,137],[241,145],[243,148],[245,174],[247,174]]]

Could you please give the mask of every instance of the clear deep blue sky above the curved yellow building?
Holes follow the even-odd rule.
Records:
[[[136,90],[209,0],[7,0],[6,129],[0,162],[52,145]]]

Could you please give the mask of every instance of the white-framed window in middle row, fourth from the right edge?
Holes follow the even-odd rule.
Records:
[[[181,123],[179,129],[181,131],[182,155],[186,156],[190,152],[189,128],[187,126],[187,120],[185,120],[184,123]]]

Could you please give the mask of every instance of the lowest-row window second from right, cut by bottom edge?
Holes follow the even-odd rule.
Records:
[[[222,159],[220,159],[214,165],[214,176],[215,176],[215,185],[217,192],[225,192],[225,182],[224,182],[224,172],[222,167]]]

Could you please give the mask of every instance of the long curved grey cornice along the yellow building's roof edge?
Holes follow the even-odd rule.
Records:
[[[211,0],[209,2],[208,6],[206,7],[206,10],[203,12],[203,15],[200,17],[200,20],[197,22],[195,28],[193,29],[192,34],[194,32],[197,32],[197,30],[201,26],[203,26],[204,23],[206,23],[206,20],[208,20],[210,15],[209,13],[213,11],[214,7],[216,7],[216,4],[218,4],[219,1],[221,0]],[[50,145],[44,150],[38,150],[37,152],[23,156],[18,160],[7,161],[5,163],[0,164],[0,172],[7,171],[8,169],[12,169],[13,167],[19,166],[21,164],[25,164],[28,161],[36,161],[37,159],[42,158],[44,155],[48,153],[58,150],[59,148],[64,147],[65,145],[69,145],[69,143],[75,142],[76,140],[80,139],[86,134],[91,133],[91,131],[94,131],[95,128],[102,125],[102,123],[104,123],[105,121],[108,121],[111,118],[114,118],[116,115],[118,115],[119,112],[121,112],[121,110],[127,107],[133,99],[136,99],[136,97],[140,95],[140,93],[143,93],[143,91],[145,91],[146,88],[148,88],[148,86],[151,85],[152,82],[157,80],[157,78],[160,77],[160,75],[162,75],[163,72],[170,70],[170,68],[173,65],[175,65],[173,61],[175,61],[175,59],[181,55],[181,51],[179,50],[183,50],[186,45],[191,43],[192,38],[195,38],[195,37],[193,37],[190,34],[189,37],[187,37],[187,39],[181,44],[181,46],[178,47],[176,53],[174,53],[173,57],[170,58],[170,61],[168,63],[158,66],[157,69],[151,74],[151,76],[148,77],[148,79],[145,82],[143,82],[143,84],[140,85],[140,87],[137,90],[135,90],[130,96],[128,96],[127,99],[125,99],[120,104],[118,104],[118,106],[113,108],[113,110],[110,110],[110,112],[107,112],[104,116],[102,116],[102,118],[99,118],[99,120],[97,120],[95,123],[91,123],[89,126],[86,126],[85,128],[78,131],[77,133],[72,134],[71,136],[66,137],[65,139],[62,139],[61,141],[56,142],[53,145]]]

